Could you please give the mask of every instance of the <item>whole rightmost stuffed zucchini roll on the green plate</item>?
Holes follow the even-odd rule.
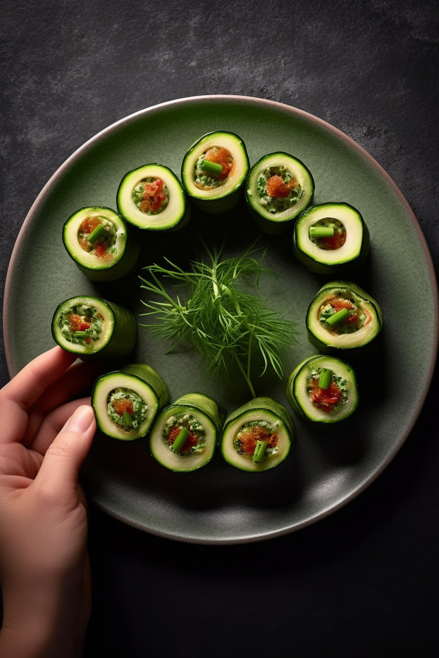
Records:
[[[305,322],[310,342],[332,353],[370,343],[382,329],[382,313],[363,288],[330,281],[311,301]]]

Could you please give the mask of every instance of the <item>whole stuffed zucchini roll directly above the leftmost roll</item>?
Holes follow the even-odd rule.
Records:
[[[72,261],[92,281],[114,281],[130,274],[140,245],[111,208],[87,207],[73,213],[63,227],[63,243]]]

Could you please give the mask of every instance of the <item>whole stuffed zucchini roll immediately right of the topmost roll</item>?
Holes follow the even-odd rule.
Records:
[[[251,167],[245,199],[265,233],[282,233],[311,203],[314,179],[303,162],[289,153],[269,153]]]

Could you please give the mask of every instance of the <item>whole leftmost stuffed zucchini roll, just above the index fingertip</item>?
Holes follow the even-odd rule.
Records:
[[[80,359],[122,359],[136,343],[136,318],[124,306],[80,295],[63,301],[53,314],[53,340]]]

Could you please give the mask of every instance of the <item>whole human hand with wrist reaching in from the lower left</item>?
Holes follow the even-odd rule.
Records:
[[[95,418],[90,398],[70,400],[102,367],[75,359],[54,347],[0,391],[1,655],[81,655],[90,564],[78,471]]]

